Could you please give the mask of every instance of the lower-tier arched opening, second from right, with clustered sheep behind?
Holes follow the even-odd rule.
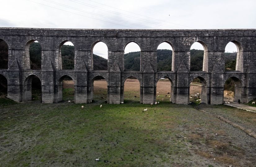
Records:
[[[200,76],[195,77],[189,85],[189,101],[209,104],[208,91],[205,79]]]

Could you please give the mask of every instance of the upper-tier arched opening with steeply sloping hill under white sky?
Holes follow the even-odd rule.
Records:
[[[97,42],[92,49],[93,70],[108,70],[108,47],[104,42]]]

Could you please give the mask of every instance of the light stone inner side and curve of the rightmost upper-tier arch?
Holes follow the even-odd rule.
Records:
[[[236,45],[236,71],[244,72],[244,48],[238,40],[230,40],[226,43],[225,48],[229,42],[232,42]]]

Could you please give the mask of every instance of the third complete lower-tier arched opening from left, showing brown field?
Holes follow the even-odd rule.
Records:
[[[108,84],[106,79],[102,76],[96,76],[92,80],[91,101],[108,102]]]

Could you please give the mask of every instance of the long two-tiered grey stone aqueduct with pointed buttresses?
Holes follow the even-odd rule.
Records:
[[[222,104],[223,87],[228,78],[235,82],[235,98],[249,102],[256,97],[256,29],[209,30],[128,30],[128,29],[47,29],[0,28],[0,40],[8,45],[8,69],[0,70],[6,77],[7,97],[14,101],[31,100],[31,77],[42,84],[42,102],[62,100],[64,75],[74,80],[75,103],[93,99],[93,81],[102,76],[108,85],[108,103],[124,100],[124,81],[134,76],[140,81],[140,102],[156,101],[156,83],[161,77],[171,81],[171,100],[188,104],[192,79],[202,81],[201,101]],[[29,45],[42,46],[42,69],[31,70]],[[71,41],[75,47],[74,70],[62,70],[60,47]],[[92,49],[102,41],[108,47],[108,70],[93,70]],[[194,42],[204,46],[203,71],[190,71],[190,47]],[[236,71],[225,71],[224,51],[228,42],[236,44]],[[124,48],[129,42],[141,48],[140,71],[124,71]],[[156,71],[157,47],[167,42],[173,47],[172,71]]]

